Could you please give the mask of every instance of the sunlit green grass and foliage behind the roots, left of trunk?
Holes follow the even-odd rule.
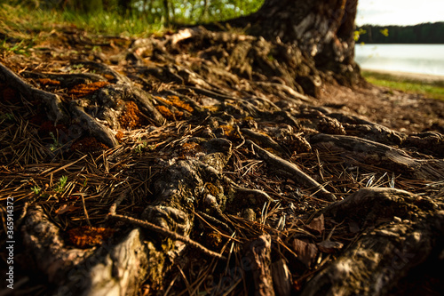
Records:
[[[96,34],[147,37],[162,33],[170,23],[196,24],[247,15],[258,10],[263,2],[0,0],[0,55],[29,54],[35,44],[64,26]],[[52,148],[59,148],[56,141]]]

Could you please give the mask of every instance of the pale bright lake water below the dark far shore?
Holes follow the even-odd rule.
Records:
[[[356,44],[361,68],[444,76],[444,44]]]

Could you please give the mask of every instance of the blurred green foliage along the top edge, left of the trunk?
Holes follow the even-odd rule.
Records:
[[[168,20],[186,24],[227,20],[257,11],[264,0],[0,0],[1,3],[32,10],[67,12],[62,13],[64,20],[83,22],[88,27],[98,26],[99,30],[104,30],[105,26],[121,28],[122,25],[147,28],[147,24],[165,25]],[[106,15],[108,20],[100,21]],[[140,28],[126,28],[125,31],[139,32]]]

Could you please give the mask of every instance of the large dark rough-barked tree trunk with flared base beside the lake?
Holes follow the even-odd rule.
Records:
[[[266,0],[258,12],[228,23],[249,26],[251,35],[295,43],[313,57],[316,68],[354,84],[360,77],[353,39],[357,5],[358,0]]]

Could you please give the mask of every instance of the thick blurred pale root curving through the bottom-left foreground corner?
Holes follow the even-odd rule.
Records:
[[[138,228],[95,250],[68,248],[40,207],[28,211],[23,240],[29,257],[38,259],[37,268],[56,286],[54,295],[135,295],[147,268],[153,268],[148,256],[155,257]]]

